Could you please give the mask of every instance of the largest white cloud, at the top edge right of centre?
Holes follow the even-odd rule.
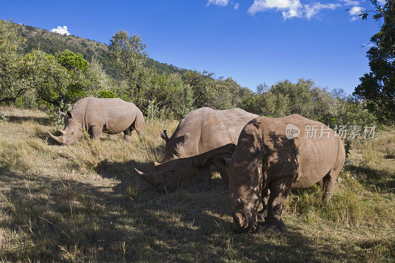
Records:
[[[302,4],[300,0],[254,0],[253,4],[248,8],[248,13],[254,15],[257,12],[275,9],[282,11],[282,17],[288,19],[291,17],[299,17],[311,19],[318,16],[321,9],[335,9],[341,6],[340,3],[320,3]]]

